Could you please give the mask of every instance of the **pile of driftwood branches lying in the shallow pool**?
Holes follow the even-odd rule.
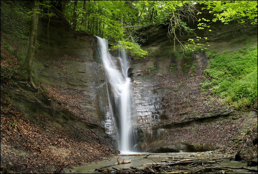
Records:
[[[147,158],[149,155],[145,155],[143,158]],[[143,164],[143,169],[136,167],[117,169],[112,167],[112,173],[227,173],[228,171],[234,172],[233,169],[244,169],[252,172],[256,172],[256,169],[247,167],[231,167],[231,166],[218,166],[221,165],[223,159],[232,160],[234,156],[223,157],[216,159],[204,159],[204,158],[188,158],[188,157],[169,157],[171,160],[153,160],[152,163]],[[147,158],[150,159],[150,158]],[[115,165],[120,164],[118,162]],[[128,161],[129,162],[129,161]],[[127,163],[128,163],[127,162]],[[131,162],[131,161],[130,161]],[[129,163],[130,163],[129,162]],[[107,167],[107,166],[106,166]],[[103,173],[110,173],[110,169],[96,169]]]

